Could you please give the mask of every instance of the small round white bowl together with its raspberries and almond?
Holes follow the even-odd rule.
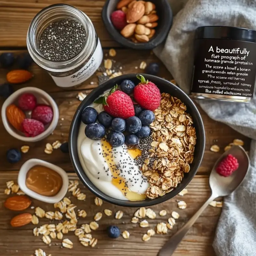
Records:
[[[36,142],[51,135],[59,120],[56,102],[36,87],[12,93],[4,101],[1,114],[6,131],[26,142]]]

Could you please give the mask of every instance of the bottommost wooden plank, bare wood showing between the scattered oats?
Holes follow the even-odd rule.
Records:
[[[77,179],[75,174],[69,174],[69,179]],[[54,239],[51,247],[45,245],[40,237],[35,237],[32,234],[32,229],[35,227],[32,224],[22,228],[12,228],[10,226],[10,219],[17,214],[3,207],[4,200],[8,197],[3,194],[5,183],[9,180],[17,180],[17,172],[0,172],[0,252],[1,256],[7,255],[30,255],[35,249],[41,248],[47,254],[54,255],[147,255],[155,256],[164,242],[170,238],[184,223],[200,208],[203,202],[210,196],[210,189],[208,185],[208,177],[197,175],[188,185],[188,194],[181,197],[176,196],[168,202],[152,206],[151,208],[157,213],[155,220],[148,220],[150,228],[155,228],[156,224],[162,221],[167,221],[171,216],[172,211],[177,211],[180,218],[177,220],[177,225],[173,230],[169,230],[166,235],[155,235],[149,242],[143,242],[141,237],[147,232],[148,228],[140,228],[138,224],[130,222],[135,208],[119,207],[107,202],[103,202],[102,206],[94,204],[95,196],[80,185],[82,192],[86,194],[85,202],[77,201],[75,197],[68,193],[72,203],[77,205],[76,209],[84,209],[87,212],[86,218],[78,220],[78,227],[84,223],[90,223],[96,212],[103,212],[104,209],[109,209],[115,213],[118,210],[124,212],[124,216],[120,220],[114,219],[113,216],[107,217],[103,214],[102,219],[99,221],[99,229],[92,231],[92,235],[98,239],[98,244],[95,248],[84,248],[79,244],[78,238],[74,236],[73,232],[64,235],[64,238],[69,238],[74,243],[72,250],[60,249],[60,240]],[[184,200],[188,207],[185,210],[177,208],[176,200]],[[45,211],[54,211],[52,204],[46,204],[33,200],[32,206],[40,206]],[[162,209],[167,211],[165,217],[160,217],[158,212]],[[34,213],[34,209],[28,208],[24,212]],[[214,230],[218,221],[221,209],[208,206],[203,214],[196,221],[195,225],[189,230],[188,235],[183,239],[180,246],[173,254],[174,256],[214,256],[212,248],[212,241],[214,237]],[[57,221],[53,221],[55,224]],[[50,223],[50,220],[40,219],[38,227]],[[106,235],[106,228],[108,225],[118,225],[121,231],[128,230],[131,236],[128,240],[119,237],[116,240],[111,240]],[[16,251],[17,250],[17,251]]]

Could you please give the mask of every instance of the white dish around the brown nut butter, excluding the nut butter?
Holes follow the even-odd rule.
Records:
[[[62,188],[60,189],[60,191],[58,192],[57,195],[55,195],[55,196],[42,196],[42,195],[39,195],[38,193],[30,190],[26,186],[27,172],[35,165],[42,165],[42,166],[48,167],[48,168],[52,169],[53,171],[60,174],[63,182],[62,182]],[[19,175],[18,175],[18,184],[20,186],[20,189],[26,195],[31,196],[31,197],[33,197],[37,200],[40,200],[42,202],[45,202],[45,203],[54,204],[54,203],[58,203],[60,200],[62,200],[62,198],[66,195],[66,193],[68,191],[68,174],[63,169],[61,169],[60,167],[58,167],[55,164],[51,164],[51,163],[45,162],[45,161],[40,160],[40,159],[32,158],[32,159],[29,159],[28,161],[26,161],[21,166],[20,172],[19,172]]]

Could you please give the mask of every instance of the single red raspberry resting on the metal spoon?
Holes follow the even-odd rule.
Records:
[[[216,172],[222,176],[228,177],[237,170],[238,166],[239,164],[236,157],[229,154],[220,162],[216,168]]]

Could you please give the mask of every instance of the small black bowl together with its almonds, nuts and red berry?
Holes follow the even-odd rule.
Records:
[[[150,50],[167,37],[172,26],[172,10],[167,0],[107,0],[102,19],[119,44]]]

